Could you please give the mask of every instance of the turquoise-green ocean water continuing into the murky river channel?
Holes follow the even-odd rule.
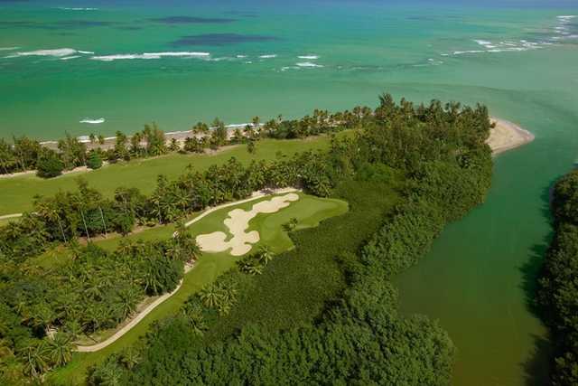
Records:
[[[536,141],[499,155],[487,202],[396,284],[403,312],[451,334],[455,384],[542,384],[547,336],[527,297],[547,190],[578,156],[575,16],[575,1],[2,0],[0,137],[296,117],[382,91],[485,103]]]

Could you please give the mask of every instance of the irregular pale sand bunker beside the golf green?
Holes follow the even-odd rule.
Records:
[[[223,221],[228,231],[233,235],[231,240],[227,241],[227,235],[224,232],[216,231],[197,236],[197,244],[204,252],[224,252],[230,248],[231,255],[243,256],[253,248],[253,244],[259,241],[258,231],[246,232],[249,221],[258,213],[275,213],[297,200],[299,200],[298,194],[289,193],[274,197],[271,200],[257,202],[249,212],[234,209],[228,212],[228,218]]]

